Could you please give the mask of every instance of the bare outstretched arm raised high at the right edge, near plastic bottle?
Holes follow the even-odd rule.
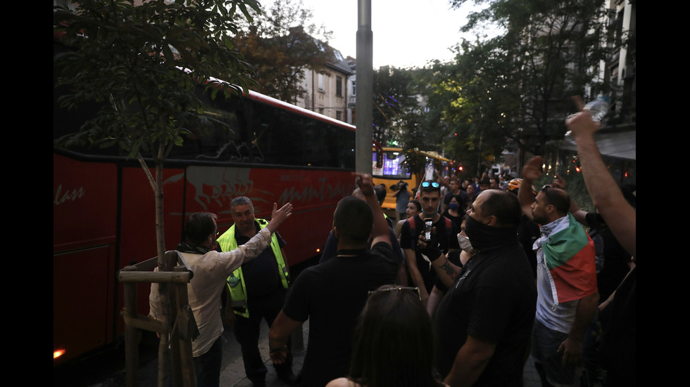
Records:
[[[606,168],[601,153],[594,141],[594,132],[600,124],[594,122],[591,114],[582,112],[581,97],[573,97],[580,112],[572,115],[565,123],[577,141],[577,155],[582,166],[582,176],[589,196],[606,221],[621,246],[636,261],[636,213],[623,197],[613,176]]]

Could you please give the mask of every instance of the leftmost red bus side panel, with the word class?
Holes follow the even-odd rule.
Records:
[[[113,339],[116,217],[115,166],[54,154],[54,364]]]

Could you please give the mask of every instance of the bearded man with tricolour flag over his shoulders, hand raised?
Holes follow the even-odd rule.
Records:
[[[522,169],[522,185],[541,178],[541,157]],[[545,185],[532,199],[519,190],[522,212],[539,223],[537,250],[537,316],[532,330],[532,355],[542,379],[559,386],[579,384],[582,374],[582,343],[596,311],[594,242],[568,212],[570,197],[559,188]],[[556,358],[556,361],[554,361]]]

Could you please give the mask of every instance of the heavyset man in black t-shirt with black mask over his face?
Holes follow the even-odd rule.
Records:
[[[437,310],[438,370],[451,386],[522,386],[537,289],[517,240],[520,202],[484,190],[467,214],[465,233],[478,252]]]

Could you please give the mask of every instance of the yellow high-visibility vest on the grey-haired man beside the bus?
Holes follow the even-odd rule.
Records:
[[[260,228],[265,228],[268,225],[268,221],[263,219],[256,219]],[[232,225],[229,230],[220,235],[218,238],[218,244],[222,251],[232,251],[237,249],[237,240],[234,237],[235,225]],[[287,289],[288,287],[288,277],[289,273],[287,270],[287,265],[285,265],[285,260],[283,254],[280,251],[280,244],[278,243],[278,238],[275,236],[275,232],[271,235],[271,249],[273,250],[273,255],[275,256],[275,261],[278,263],[278,270],[280,272],[280,281],[283,287]],[[242,284],[242,286],[238,286]],[[246,300],[246,284],[244,284],[244,275],[242,274],[242,266],[234,270],[230,277],[227,277],[227,289],[230,290],[230,297],[232,297],[232,310],[235,314],[241,315],[242,317],[249,317],[249,309],[247,308]]]

